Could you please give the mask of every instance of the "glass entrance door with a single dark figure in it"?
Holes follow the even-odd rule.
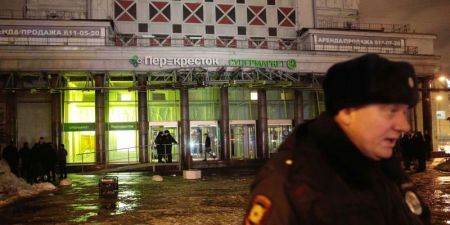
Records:
[[[192,160],[216,160],[218,159],[218,129],[217,121],[191,121],[190,148]],[[209,136],[211,151],[205,152],[205,140]],[[206,153],[206,156],[205,156]]]

